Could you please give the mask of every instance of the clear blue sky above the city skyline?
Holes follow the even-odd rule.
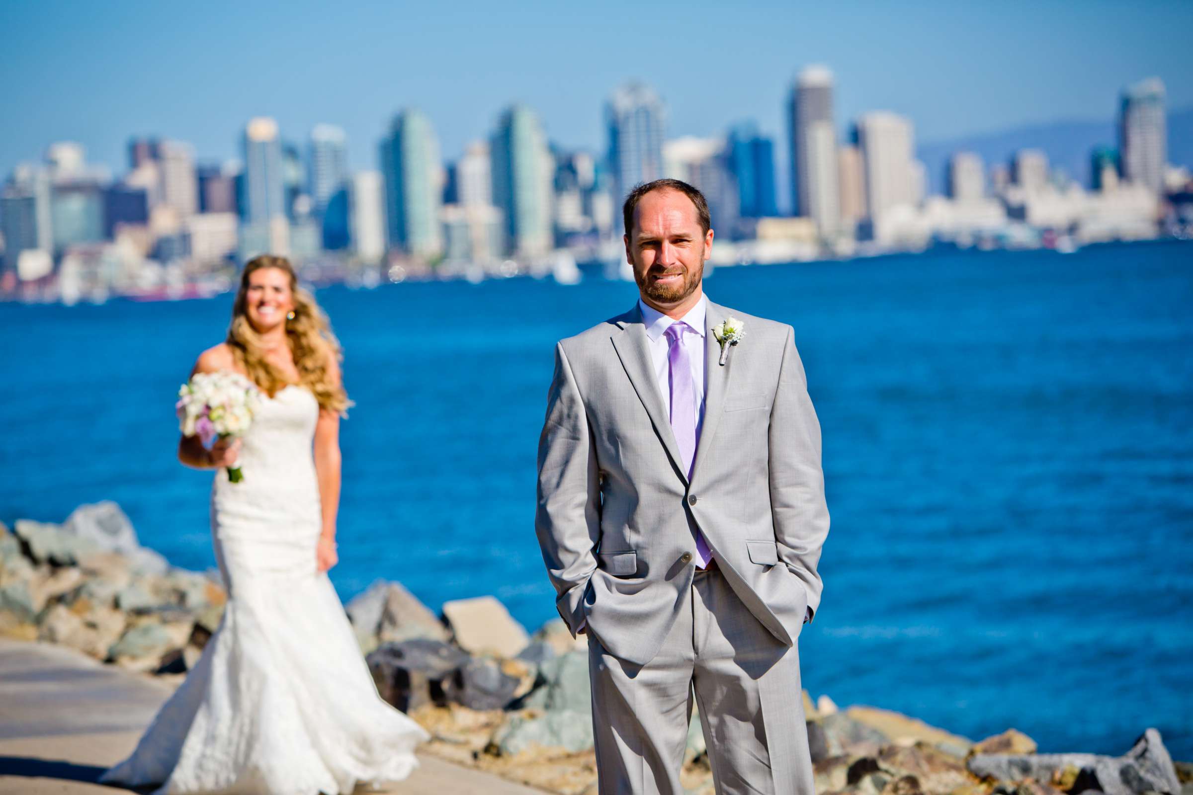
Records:
[[[450,159],[513,100],[552,141],[598,149],[604,100],[631,77],[667,101],[668,136],[753,118],[781,141],[792,76],[815,62],[836,74],[842,129],[891,110],[920,141],[1108,118],[1149,75],[1170,107],[1193,105],[1185,1],[0,4],[0,174],[60,139],[117,172],[132,135],[235,157],[258,114],[298,142],[339,124],[371,168],[407,105]]]

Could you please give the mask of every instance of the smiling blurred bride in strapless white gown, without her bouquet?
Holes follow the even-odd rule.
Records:
[[[261,390],[241,440],[178,456],[215,470],[211,529],[228,585],[223,622],[136,751],[101,781],[159,793],[351,793],[396,781],[427,739],[377,695],[327,570],[340,497],[339,343],[290,263],[245,266],[228,339],[196,373],[234,371]],[[243,480],[230,483],[236,464]]]

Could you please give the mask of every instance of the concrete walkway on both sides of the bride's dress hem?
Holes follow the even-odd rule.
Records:
[[[136,746],[171,689],[47,644],[0,639],[0,793],[131,791],[95,784]],[[420,756],[392,795],[542,795],[539,790]],[[364,791],[364,790],[360,790]]]

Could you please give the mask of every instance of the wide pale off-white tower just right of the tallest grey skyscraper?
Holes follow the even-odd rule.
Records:
[[[895,207],[916,204],[911,122],[876,111],[858,119],[858,144],[866,174],[866,209],[876,237]]]

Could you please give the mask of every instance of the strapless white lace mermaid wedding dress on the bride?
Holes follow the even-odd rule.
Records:
[[[162,795],[340,795],[418,765],[426,732],[377,695],[316,569],[317,417],[304,387],[262,396],[239,459],[245,479],[221,470],[211,492],[223,622],[132,756],[100,781]]]

